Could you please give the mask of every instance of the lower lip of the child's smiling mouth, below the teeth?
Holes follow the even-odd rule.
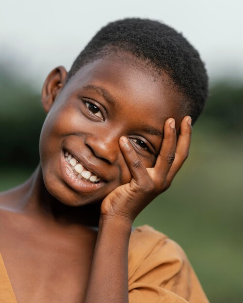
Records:
[[[80,193],[91,193],[105,184],[103,181],[92,183],[83,179],[78,179],[70,165],[66,162],[64,152],[62,152],[61,156],[61,171],[65,182]]]

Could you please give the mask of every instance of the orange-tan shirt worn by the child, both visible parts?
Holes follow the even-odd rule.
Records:
[[[0,303],[17,303],[1,255]],[[129,303],[209,303],[181,247],[147,225],[130,236]]]

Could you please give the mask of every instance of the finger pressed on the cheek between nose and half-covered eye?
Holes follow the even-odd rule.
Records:
[[[132,177],[138,182],[143,176],[148,176],[146,167],[135,152],[128,138],[125,136],[120,137],[119,143]]]

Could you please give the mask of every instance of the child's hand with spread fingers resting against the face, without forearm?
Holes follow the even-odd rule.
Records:
[[[130,183],[115,188],[101,204],[101,216],[116,217],[133,222],[136,216],[173,181],[188,157],[191,142],[191,118],[184,117],[177,135],[174,119],[164,124],[164,138],[155,166],[146,168],[126,137],[119,144],[132,179]],[[174,126],[173,126],[174,124]]]

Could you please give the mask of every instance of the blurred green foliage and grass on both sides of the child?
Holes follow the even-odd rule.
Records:
[[[0,66],[0,190],[38,163],[40,91]],[[211,84],[190,156],[171,188],[134,225],[149,224],[185,250],[211,302],[243,301],[243,83]]]

